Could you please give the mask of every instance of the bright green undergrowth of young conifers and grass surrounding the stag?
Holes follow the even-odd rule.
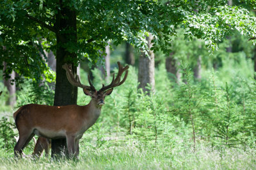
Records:
[[[239,59],[246,63],[243,57]],[[229,64],[226,61],[223,65]],[[99,120],[84,133],[75,161],[45,157],[13,160],[17,130],[12,112],[6,111],[0,124],[0,168],[255,169],[256,82],[246,75],[250,75],[250,67],[205,70],[197,81],[189,65],[181,63],[182,79],[177,83],[160,65],[156,92],[149,95],[137,89],[137,71],[131,67],[127,81],[106,98]],[[98,70],[93,74],[93,83],[99,88],[104,80]],[[83,70],[81,80],[87,83]],[[52,105],[51,86],[25,85],[17,106]],[[79,89],[77,104],[89,101]],[[24,152],[31,154],[33,145],[31,142]]]

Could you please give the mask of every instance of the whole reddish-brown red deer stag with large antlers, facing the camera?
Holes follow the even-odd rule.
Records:
[[[22,153],[22,150],[35,134],[49,139],[66,138],[68,155],[77,156],[79,154],[79,139],[99,118],[105,97],[112,93],[113,88],[123,84],[127,78],[129,66],[123,67],[120,62],[117,62],[117,64],[118,73],[116,78],[114,74],[111,83],[108,86],[102,84],[99,91],[94,88],[89,76],[90,86],[85,86],[81,84],[78,76],[76,79],[70,66],[63,65],[62,67],[66,70],[70,84],[83,88],[84,94],[90,96],[92,100],[89,104],[83,106],[28,104],[20,107],[13,114],[16,127],[19,130],[19,141],[14,147],[15,157]],[[124,72],[124,79],[121,81],[121,75]]]

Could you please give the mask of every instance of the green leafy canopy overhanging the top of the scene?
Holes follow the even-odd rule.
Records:
[[[234,29],[248,38],[256,37],[256,18],[248,12],[255,8],[255,0],[238,1],[235,6],[227,6],[223,0],[2,0],[0,6],[0,45],[4,47],[0,48],[0,62],[7,63],[5,73],[15,70],[36,81],[42,74],[52,74],[44,50],[56,54],[58,45],[76,52],[76,61],[88,58],[96,62],[108,41],[115,45],[127,41],[146,52],[148,33],[155,37],[151,50],[169,53],[177,26],[184,29],[185,38],[205,40],[211,51]],[[56,42],[58,31],[68,31],[56,30],[60,8],[76,12],[77,42]]]

